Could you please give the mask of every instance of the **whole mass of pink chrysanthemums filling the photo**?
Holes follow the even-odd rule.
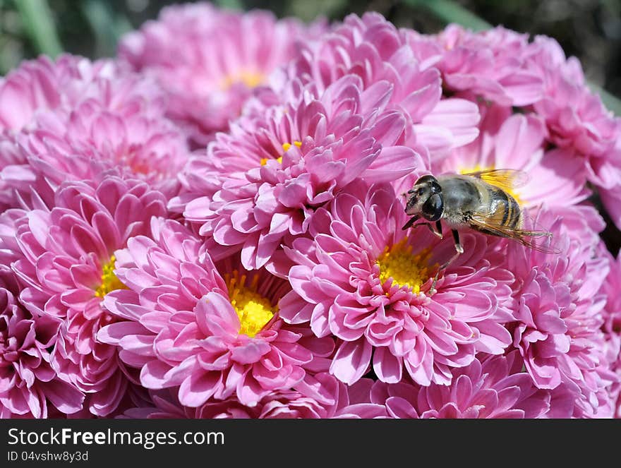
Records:
[[[0,132],[4,418],[621,417],[621,119],[549,37],[170,6]]]

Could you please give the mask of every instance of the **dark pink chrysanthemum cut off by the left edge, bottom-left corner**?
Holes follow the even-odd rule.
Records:
[[[19,304],[18,294],[13,272],[0,266],[0,418],[78,412],[84,395],[49,364],[59,320],[32,316]]]

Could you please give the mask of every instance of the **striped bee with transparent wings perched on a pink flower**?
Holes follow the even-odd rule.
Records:
[[[435,284],[440,272],[464,253],[459,241],[459,231],[464,228],[514,239],[538,251],[557,253],[554,248],[537,244],[532,239],[550,238],[551,232],[522,229],[523,210],[509,191],[524,185],[527,180],[525,172],[493,169],[469,174],[447,174],[438,178],[426,175],[416,181],[407,192],[405,212],[411,218],[402,229],[412,227],[414,222],[422,218],[425,222],[421,224],[427,224],[430,231],[442,239],[440,220],[445,220],[451,229],[456,251],[446,263],[440,265],[429,295],[436,292]]]

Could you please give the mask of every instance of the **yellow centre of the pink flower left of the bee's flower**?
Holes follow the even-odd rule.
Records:
[[[272,320],[278,306],[257,292],[259,275],[255,275],[249,286],[246,286],[246,275],[234,271],[232,275],[224,275],[229,289],[229,299],[239,317],[240,335],[254,337]]]

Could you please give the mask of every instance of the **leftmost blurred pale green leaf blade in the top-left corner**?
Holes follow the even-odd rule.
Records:
[[[61,54],[63,47],[47,1],[15,0],[14,4],[37,52],[52,58]]]

